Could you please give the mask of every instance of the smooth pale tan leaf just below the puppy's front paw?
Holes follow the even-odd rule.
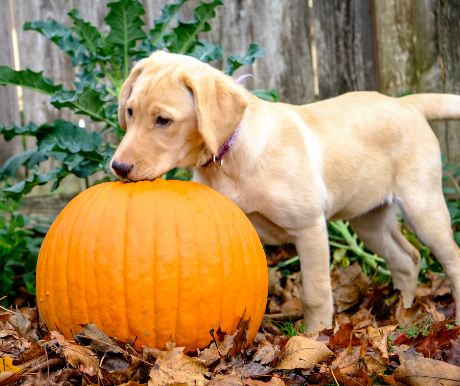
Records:
[[[327,346],[299,335],[288,340],[277,369],[310,368],[332,354]]]

